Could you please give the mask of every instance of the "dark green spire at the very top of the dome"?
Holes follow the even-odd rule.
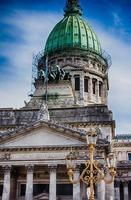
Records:
[[[67,0],[65,8],[65,16],[82,15],[82,9],[79,5],[79,0]]]

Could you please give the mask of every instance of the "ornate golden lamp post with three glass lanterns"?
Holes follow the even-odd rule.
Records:
[[[110,178],[107,179],[103,170],[100,169],[100,163],[98,160],[94,159],[95,146],[97,142],[97,132],[96,129],[90,129],[86,134],[87,145],[89,149],[89,159],[85,161],[85,169],[82,171],[78,180],[74,180],[74,171],[76,166],[77,155],[74,151],[71,152],[66,157],[67,162],[67,174],[71,183],[78,183],[79,181],[84,182],[88,187],[90,187],[90,197],[89,200],[94,200],[94,185],[104,180],[106,183],[112,183],[116,175],[116,160],[113,153],[107,156],[106,164],[107,171],[110,174]]]

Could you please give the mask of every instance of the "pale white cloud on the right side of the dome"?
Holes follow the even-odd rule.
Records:
[[[116,119],[116,132],[131,132],[131,46],[96,25],[101,45],[112,57],[109,69],[109,107]]]

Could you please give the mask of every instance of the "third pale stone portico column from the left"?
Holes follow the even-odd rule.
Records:
[[[50,185],[49,185],[49,200],[56,200],[56,169],[57,166],[49,166],[50,169]]]

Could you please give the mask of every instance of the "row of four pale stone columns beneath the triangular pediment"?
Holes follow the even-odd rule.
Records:
[[[49,165],[49,200],[56,200],[57,165]],[[33,173],[34,166],[26,167],[26,191],[25,200],[33,200]],[[10,200],[11,167],[3,167],[4,181],[2,200]],[[79,177],[79,169],[75,171],[75,178]],[[73,200],[80,200],[80,183],[73,184]]]

